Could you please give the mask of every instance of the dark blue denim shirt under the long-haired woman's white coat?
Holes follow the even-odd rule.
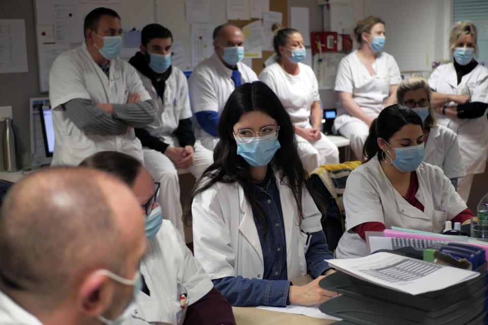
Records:
[[[248,279],[242,276],[214,279],[214,286],[221,291],[232,306],[286,306],[291,281],[286,266],[286,240],[283,211],[275,175],[268,166],[265,181],[256,184],[252,196],[263,207],[268,218],[267,232],[256,211],[254,222],[263,253],[263,279]],[[323,231],[311,233],[309,249],[305,254],[308,272],[316,278],[329,269],[324,259],[333,258],[327,248]]]

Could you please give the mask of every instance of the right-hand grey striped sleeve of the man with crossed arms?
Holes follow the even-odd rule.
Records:
[[[153,100],[112,106],[118,119],[134,127],[146,126],[156,119],[156,103]]]

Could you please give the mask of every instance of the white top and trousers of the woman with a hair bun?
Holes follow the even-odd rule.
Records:
[[[312,68],[302,63],[298,63],[298,67],[300,72],[293,76],[275,62],[264,68],[259,80],[276,93],[293,124],[312,128],[310,114],[312,104],[320,101],[319,86]],[[339,163],[339,149],[323,133],[321,135],[314,142],[296,135],[298,154],[308,172],[322,165]]]

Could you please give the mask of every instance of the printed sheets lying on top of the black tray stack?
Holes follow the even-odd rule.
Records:
[[[327,259],[347,274],[411,295],[441,290],[479,276],[478,272],[379,252],[359,258]]]

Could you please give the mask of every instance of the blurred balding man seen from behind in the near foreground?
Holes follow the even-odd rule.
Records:
[[[113,324],[139,293],[147,241],[131,190],[105,173],[52,168],[0,210],[0,323]]]

